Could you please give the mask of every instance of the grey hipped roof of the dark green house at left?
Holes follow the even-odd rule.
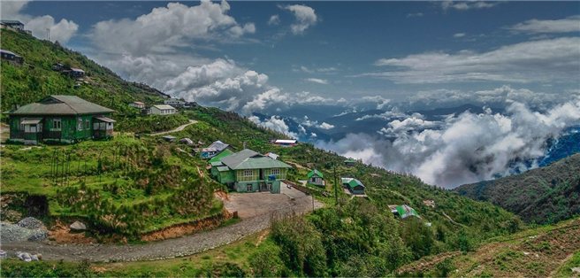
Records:
[[[9,114],[14,115],[82,115],[115,112],[76,96],[50,96],[27,104]]]

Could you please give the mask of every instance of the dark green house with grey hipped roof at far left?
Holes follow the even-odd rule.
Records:
[[[112,109],[75,96],[50,96],[9,112],[10,140],[25,144],[77,143],[113,135]]]

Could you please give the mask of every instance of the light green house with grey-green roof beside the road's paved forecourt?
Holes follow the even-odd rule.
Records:
[[[280,181],[286,179],[286,163],[252,150],[243,150],[210,162],[217,181],[232,185],[238,192],[280,193]]]

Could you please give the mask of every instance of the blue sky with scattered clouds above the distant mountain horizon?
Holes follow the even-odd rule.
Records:
[[[210,11],[217,1],[207,9],[200,1],[173,8],[164,1],[2,2],[4,18],[27,21],[39,37],[50,27],[52,40],[130,81],[239,112],[363,97],[477,102],[477,92],[505,86],[553,98],[580,88],[578,1],[228,1],[218,14]],[[204,26],[188,16],[213,21]],[[151,26],[136,24],[139,17]],[[213,76],[200,75],[203,66]],[[225,89],[228,79],[237,87]],[[248,103],[255,105],[244,109]]]

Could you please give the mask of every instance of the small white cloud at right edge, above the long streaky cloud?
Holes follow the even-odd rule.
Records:
[[[525,33],[569,33],[580,32],[580,15],[557,20],[531,19],[506,29]]]

